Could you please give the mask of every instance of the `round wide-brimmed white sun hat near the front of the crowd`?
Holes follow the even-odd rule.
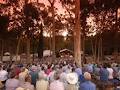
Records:
[[[76,84],[78,82],[78,76],[76,73],[67,74],[66,80],[69,84]]]

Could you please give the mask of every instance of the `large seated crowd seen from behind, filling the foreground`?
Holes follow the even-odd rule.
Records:
[[[119,84],[117,63],[88,63],[82,68],[74,61],[0,63],[0,90],[102,90],[99,85],[106,90],[107,85]]]

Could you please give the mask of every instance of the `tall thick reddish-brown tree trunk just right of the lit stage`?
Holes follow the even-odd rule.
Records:
[[[74,30],[74,58],[79,67],[81,64],[81,30],[80,30],[80,0],[75,0],[75,30]]]

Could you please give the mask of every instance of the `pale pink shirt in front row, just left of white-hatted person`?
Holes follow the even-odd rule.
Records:
[[[50,90],[65,90],[65,88],[62,82],[55,80],[50,84]]]

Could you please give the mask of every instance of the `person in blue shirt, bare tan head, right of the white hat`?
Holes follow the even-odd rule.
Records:
[[[96,85],[91,82],[91,74],[88,72],[84,73],[85,82],[80,84],[79,90],[96,90]]]

